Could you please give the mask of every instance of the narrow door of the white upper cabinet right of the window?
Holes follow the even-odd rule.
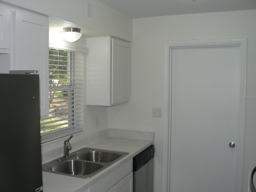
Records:
[[[128,102],[129,43],[112,38],[111,104]]]

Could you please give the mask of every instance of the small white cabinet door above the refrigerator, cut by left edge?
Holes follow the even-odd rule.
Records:
[[[0,49],[0,53],[10,53],[10,8],[3,6],[0,6]]]

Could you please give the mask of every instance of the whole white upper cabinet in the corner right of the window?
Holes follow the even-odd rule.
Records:
[[[129,43],[113,37],[88,38],[87,105],[114,106],[129,101]]]

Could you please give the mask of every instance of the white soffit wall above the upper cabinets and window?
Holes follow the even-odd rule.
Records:
[[[85,28],[89,36],[111,35],[132,40],[132,19],[98,0],[1,1],[72,22]],[[92,17],[87,16],[87,2],[92,4]]]

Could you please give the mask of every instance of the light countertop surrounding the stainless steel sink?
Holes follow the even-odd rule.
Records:
[[[142,152],[151,144],[153,144],[152,140],[107,137],[103,140],[95,142],[94,144],[83,146],[88,148],[128,152],[129,154],[89,179],[76,178],[43,171],[43,190],[44,192],[85,191],[86,188],[104,178],[104,176],[122,166],[128,160],[131,160],[134,156]]]

